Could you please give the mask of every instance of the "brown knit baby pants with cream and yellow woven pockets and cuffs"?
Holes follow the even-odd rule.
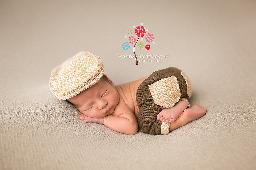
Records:
[[[153,72],[136,93],[140,131],[152,135],[168,134],[170,124],[157,120],[156,116],[162,109],[171,108],[181,100],[187,101],[190,96],[191,82],[181,70],[169,67]]]

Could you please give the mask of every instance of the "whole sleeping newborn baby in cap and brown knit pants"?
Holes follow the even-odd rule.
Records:
[[[206,113],[199,105],[190,108],[191,82],[177,68],[115,86],[103,67],[101,57],[79,52],[51,72],[51,91],[74,105],[84,122],[129,135],[138,129],[156,135],[168,134]]]

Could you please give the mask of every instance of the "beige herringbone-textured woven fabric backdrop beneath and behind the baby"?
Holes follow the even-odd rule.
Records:
[[[0,169],[255,170],[255,9],[255,0],[1,0]],[[141,23],[155,44],[136,55],[168,58],[129,58],[134,43],[122,44]],[[51,70],[79,51],[101,56],[116,85],[177,67],[192,82],[190,104],[207,113],[157,136],[84,123],[49,89]]]

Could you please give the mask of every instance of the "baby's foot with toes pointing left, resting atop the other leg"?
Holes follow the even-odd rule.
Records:
[[[163,109],[156,119],[166,123],[173,123],[187,107],[188,103],[186,101],[180,101],[172,108]]]

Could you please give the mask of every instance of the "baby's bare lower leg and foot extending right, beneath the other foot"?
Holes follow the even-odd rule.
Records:
[[[170,124],[169,131],[187,125],[189,122],[204,116],[205,113],[205,108],[199,105],[193,105],[190,109],[185,109],[184,112],[176,119],[176,121]]]

